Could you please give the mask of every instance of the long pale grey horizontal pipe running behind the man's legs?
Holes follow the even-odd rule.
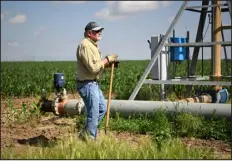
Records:
[[[113,116],[116,112],[119,112],[123,116],[129,116],[132,113],[151,113],[159,108],[166,109],[167,113],[183,111],[204,116],[210,116],[216,111],[217,116],[231,117],[231,104],[138,100],[111,100],[110,114]],[[64,112],[68,115],[79,114],[80,110],[83,111],[84,109],[83,100],[68,100],[64,105]]]

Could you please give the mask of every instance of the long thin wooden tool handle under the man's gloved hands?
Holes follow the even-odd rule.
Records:
[[[108,123],[109,123],[109,116],[110,116],[110,101],[111,101],[111,92],[112,92],[113,76],[114,76],[114,63],[112,63],[112,65],[111,65],[110,90],[109,90],[109,97],[108,97],[108,102],[107,102],[107,113],[106,113],[105,134],[107,133]]]

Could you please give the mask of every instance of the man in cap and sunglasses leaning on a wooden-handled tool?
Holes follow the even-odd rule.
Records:
[[[97,42],[101,40],[104,28],[96,22],[89,22],[85,27],[84,39],[77,48],[77,91],[83,98],[86,107],[86,124],[81,136],[91,139],[97,137],[97,127],[104,117],[107,106],[98,79],[103,70],[118,58],[116,54],[102,59]]]

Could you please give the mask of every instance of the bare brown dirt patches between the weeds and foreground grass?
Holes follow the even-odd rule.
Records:
[[[77,98],[76,96],[75,98]],[[69,98],[74,98],[69,95]],[[36,98],[12,99],[16,108],[21,108],[23,103],[37,103]],[[1,101],[1,150],[4,148],[13,148],[15,153],[20,154],[29,144],[32,149],[38,146],[46,146],[48,143],[77,132],[75,118],[60,118],[52,113],[48,116],[42,116],[38,120],[31,120],[27,123],[5,123],[2,122],[6,112],[6,100]],[[113,132],[115,137],[120,140],[129,141],[131,145],[136,146],[138,139],[144,135],[137,135],[126,132]],[[230,158],[231,147],[228,143],[218,140],[203,140],[195,138],[183,138],[182,141],[187,147],[203,147],[215,150],[219,157]]]

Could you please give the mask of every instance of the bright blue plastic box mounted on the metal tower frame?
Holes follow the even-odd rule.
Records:
[[[172,43],[186,43],[187,38],[171,37]],[[186,47],[170,47],[171,62],[187,60]]]

